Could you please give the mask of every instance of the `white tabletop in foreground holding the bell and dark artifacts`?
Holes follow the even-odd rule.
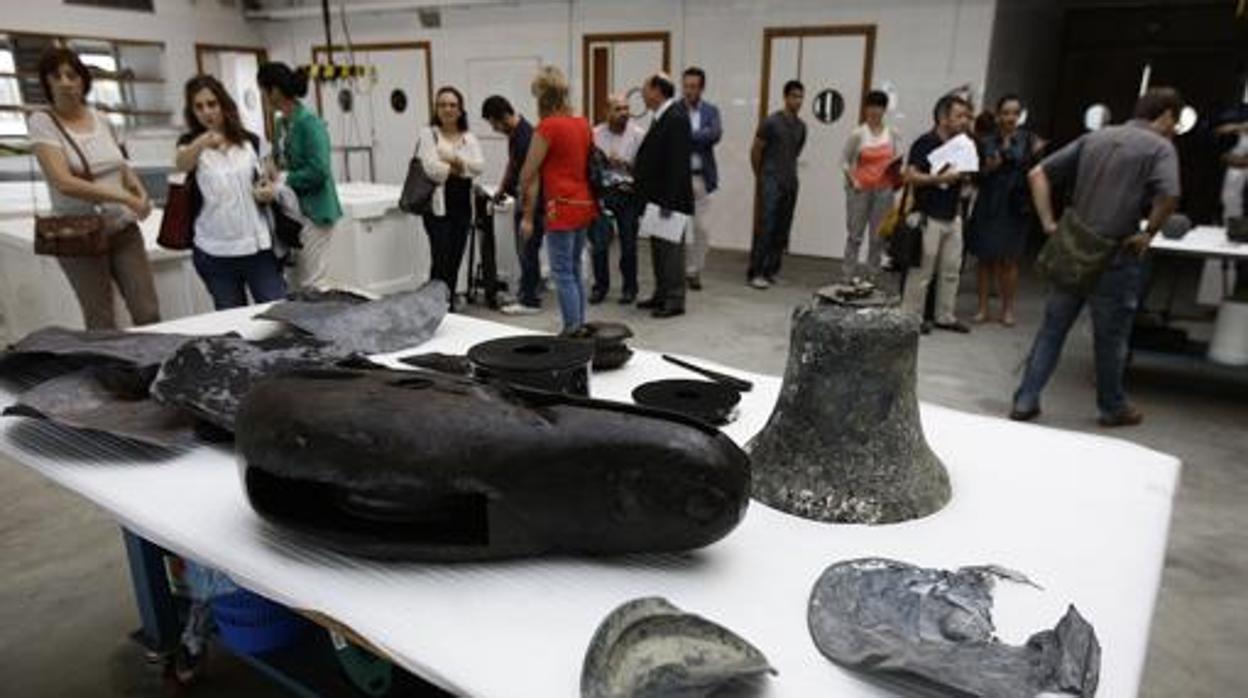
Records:
[[[161,328],[246,328],[258,336],[268,325],[246,321],[253,311]],[[518,332],[449,316],[419,352],[463,352]],[[765,423],[779,380],[734,373],[756,385],[743,396],[740,418],[725,428],[744,443]],[[626,400],[638,383],[664,377],[693,376],[639,352],[624,370],[595,375],[592,392]],[[0,395],[0,402],[9,398]],[[0,422],[0,453],[171,551],[276,601],[337,619],[403,667],[461,694],[577,696],[584,651],[603,617],[628,599],[659,594],[755,643],[780,672],[768,696],[887,696],[824,659],[805,621],[810,588],[825,567],[884,556],[943,568],[997,563],[1031,576],[1043,591],[998,587],[995,617],[1002,639],[1018,643],[1052,627],[1073,603],[1103,648],[1097,696],[1134,696],[1178,461],[1124,441],[935,406],[924,406],[922,420],[953,484],[952,502],[925,519],[831,526],[755,502],[736,531],[695,553],[488,564],[382,563],[295,539],[252,512],[233,453],[222,447],[144,463],[117,452],[116,442],[7,418]],[[44,446],[20,446],[22,430]],[[46,446],[55,441],[49,435],[59,435],[61,446]],[[96,457],[100,443],[111,445],[111,462]]]

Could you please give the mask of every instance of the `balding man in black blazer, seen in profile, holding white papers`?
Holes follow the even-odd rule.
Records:
[[[675,99],[676,86],[665,74],[655,74],[641,86],[645,106],[654,112],[633,162],[633,177],[641,199],[659,207],[661,216],[694,212],[693,134],[689,114]],[[638,303],[654,317],[685,313],[685,243],[650,237],[654,295]]]

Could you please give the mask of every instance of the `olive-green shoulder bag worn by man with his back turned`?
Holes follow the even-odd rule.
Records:
[[[1087,295],[1096,288],[1121,242],[1104,237],[1085,224],[1073,206],[1067,206],[1036,257],[1036,271],[1053,286]]]

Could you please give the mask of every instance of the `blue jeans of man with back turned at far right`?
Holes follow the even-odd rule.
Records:
[[[1102,416],[1112,417],[1127,407],[1122,375],[1127,367],[1127,341],[1139,306],[1143,263],[1128,252],[1118,256],[1104,271],[1090,296],[1050,291],[1045,321],[1027,357],[1022,385],[1015,393],[1015,410],[1040,407],[1040,393],[1048,383],[1062,356],[1066,335],[1086,302],[1092,312],[1092,348],[1096,356],[1096,403]]]

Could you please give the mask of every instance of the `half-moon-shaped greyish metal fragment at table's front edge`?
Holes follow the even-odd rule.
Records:
[[[776,673],[753,644],[668,599],[613,611],[594,633],[580,673],[582,698],[680,698],[761,694]],[[753,679],[753,688],[748,691]],[[719,689],[733,686],[731,693]]]

